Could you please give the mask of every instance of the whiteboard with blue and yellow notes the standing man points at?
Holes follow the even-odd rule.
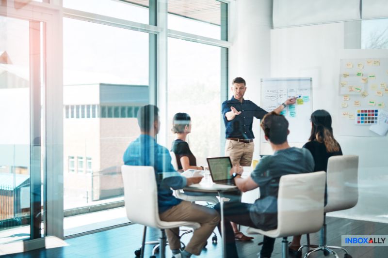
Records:
[[[288,98],[295,96],[300,98],[294,105],[284,108],[282,115],[289,121],[290,134],[287,139],[290,146],[301,146],[308,141],[311,133],[309,118],[312,113],[312,78],[261,79],[260,107],[267,112],[271,112]],[[260,155],[272,154],[270,144],[265,140],[263,131],[260,131]]]

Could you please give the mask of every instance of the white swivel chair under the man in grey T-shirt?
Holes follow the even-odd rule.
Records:
[[[290,174],[280,178],[277,228],[248,228],[248,234],[282,237],[282,257],[288,258],[288,236],[318,231],[323,225],[325,172]]]

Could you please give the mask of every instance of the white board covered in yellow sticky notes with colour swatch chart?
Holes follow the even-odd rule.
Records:
[[[378,122],[375,115],[388,105],[387,83],[388,58],[340,60],[340,135],[378,137],[369,127]]]

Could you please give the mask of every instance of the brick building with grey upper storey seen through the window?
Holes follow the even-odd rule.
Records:
[[[122,155],[140,134],[136,114],[147,103],[147,86],[64,87],[65,209],[123,195]]]

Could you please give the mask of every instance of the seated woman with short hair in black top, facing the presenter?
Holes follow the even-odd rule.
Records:
[[[186,113],[175,114],[173,118],[173,128],[171,131],[177,134],[177,139],[172,143],[171,151],[174,152],[177,157],[178,170],[185,171],[190,168],[204,170],[204,167],[202,166],[197,167],[195,156],[191,152],[189,144],[186,142],[186,136],[191,133],[190,116]],[[232,225],[234,236],[237,240],[250,241],[254,239],[253,237],[245,236],[242,232],[240,232],[237,224],[234,222],[231,222],[230,224]]]

